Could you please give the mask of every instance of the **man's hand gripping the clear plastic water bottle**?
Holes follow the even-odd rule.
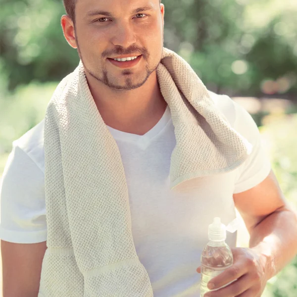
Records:
[[[232,284],[204,297],[260,297],[264,291],[266,256],[252,248],[232,248],[233,265],[208,282],[208,289],[215,290],[234,281]],[[200,267],[197,268],[200,273]]]

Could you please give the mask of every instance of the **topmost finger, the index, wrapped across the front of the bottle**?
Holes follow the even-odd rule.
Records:
[[[218,276],[214,277],[208,283],[208,288],[211,290],[221,288],[227,284],[239,279],[248,272],[248,267],[242,261],[233,264],[230,268],[227,268]]]

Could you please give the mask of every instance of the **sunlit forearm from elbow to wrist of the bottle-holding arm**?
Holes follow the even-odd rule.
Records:
[[[267,280],[284,268],[297,254],[297,215],[282,208],[250,231],[249,247],[264,255]]]

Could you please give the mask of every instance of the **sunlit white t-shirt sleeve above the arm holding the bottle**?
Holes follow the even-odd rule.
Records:
[[[253,118],[238,103],[234,102],[234,105],[236,111],[234,129],[253,146],[247,160],[238,168],[234,188],[234,194],[237,194],[260,184],[268,176],[271,163]]]

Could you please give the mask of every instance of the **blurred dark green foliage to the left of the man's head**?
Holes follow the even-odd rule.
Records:
[[[0,56],[9,89],[32,80],[58,81],[78,63],[64,39],[59,0],[6,0],[0,10]]]

